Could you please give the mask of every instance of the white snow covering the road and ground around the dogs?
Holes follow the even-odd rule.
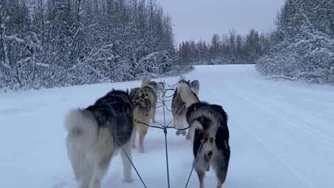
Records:
[[[200,100],[221,104],[228,112],[231,159],[223,187],[334,187],[333,86],[267,80],[254,65],[197,66],[186,78],[199,79]],[[178,77],[165,80],[175,84]],[[139,84],[129,81],[0,93],[0,187],[77,187],[65,149],[65,113],[88,106],[111,88]],[[167,122],[171,119],[168,112]],[[162,109],[157,110],[157,120],[163,123]],[[184,187],[193,161],[191,145],[169,130],[168,149],[170,187]],[[146,185],[167,187],[161,130],[149,129],[145,151],[133,150],[133,158]],[[133,175],[131,184],[122,182],[117,156],[102,187],[143,187],[134,171]],[[205,187],[215,186],[210,171]],[[196,173],[189,187],[198,187]]]

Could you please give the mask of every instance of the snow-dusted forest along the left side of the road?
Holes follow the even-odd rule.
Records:
[[[173,74],[170,15],[154,0],[0,0],[0,89]]]

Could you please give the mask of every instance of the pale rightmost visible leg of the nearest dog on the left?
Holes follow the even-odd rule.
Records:
[[[132,153],[131,153],[131,143],[130,141],[128,143],[125,143],[123,146],[124,150],[120,151],[120,156],[122,157],[122,164],[123,164],[123,181],[124,182],[132,182],[132,171],[131,171],[131,163],[129,162],[129,159],[127,156],[129,156],[130,159],[132,159]],[[126,153],[125,153],[126,152]]]

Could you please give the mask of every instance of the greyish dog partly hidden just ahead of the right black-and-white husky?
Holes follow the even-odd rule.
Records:
[[[185,81],[185,79],[183,77],[180,78],[179,80],[179,84],[187,84],[188,86],[191,87],[190,85],[190,80],[189,81]],[[191,88],[192,90],[194,89],[195,91],[199,90],[199,81],[193,81],[193,86],[195,88]],[[197,94],[196,93],[196,94]],[[185,117],[186,117],[186,107],[184,106],[185,102],[184,100],[182,100],[179,90],[178,88],[176,88],[174,95],[173,95],[173,99],[172,99],[172,114],[173,114],[173,119],[174,119],[174,126],[179,128],[179,129],[183,129],[185,126]],[[191,132],[192,130],[189,130],[188,133],[186,134],[186,130],[184,131],[180,131],[177,130],[175,134],[177,135],[186,135],[186,139],[190,140],[191,139],[191,134],[193,134],[193,132]]]

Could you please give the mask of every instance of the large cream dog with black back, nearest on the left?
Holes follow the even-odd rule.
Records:
[[[132,167],[125,152],[132,157],[133,112],[127,92],[113,90],[86,109],[67,113],[67,156],[79,188],[100,188],[111,158],[119,152],[124,181],[132,182]]]

